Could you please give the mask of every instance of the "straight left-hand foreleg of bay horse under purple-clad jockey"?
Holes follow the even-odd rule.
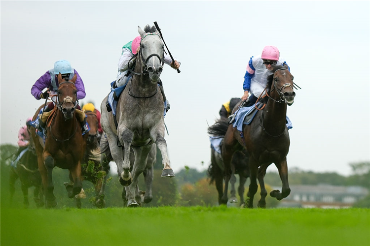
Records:
[[[53,208],[57,206],[54,196],[54,184],[53,184],[53,168],[55,166],[54,159],[47,152],[43,153],[44,168],[45,170],[39,170],[41,173],[42,183],[44,184],[44,193],[46,197],[46,207]]]

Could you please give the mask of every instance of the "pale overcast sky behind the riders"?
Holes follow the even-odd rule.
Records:
[[[359,1],[1,1],[0,144],[43,102],[32,85],[57,60],[80,74],[97,108],[115,80],[121,47],[157,21],[181,73],[161,79],[171,166],[204,170],[208,124],[243,95],[246,65],[279,48],[296,91],[288,167],[351,174],[370,160],[370,2]],[[204,164],[201,164],[204,162]],[[268,171],[276,171],[274,165]]]

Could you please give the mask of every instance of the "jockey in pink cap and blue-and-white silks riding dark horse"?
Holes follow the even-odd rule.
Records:
[[[280,58],[280,52],[275,46],[265,46],[260,57],[251,57],[244,76],[242,100],[247,100],[245,106],[252,106],[262,94],[267,85],[268,71],[274,65],[286,65],[287,62]],[[290,70],[289,66],[288,69]],[[249,95],[249,92],[251,95]]]

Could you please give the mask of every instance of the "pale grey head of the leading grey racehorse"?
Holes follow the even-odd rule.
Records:
[[[143,73],[149,73],[150,81],[157,83],[163,70],[164,45],[155,29],[147,25],[144,31],[138,27],[141,36],[139,57],[143,65]]]

